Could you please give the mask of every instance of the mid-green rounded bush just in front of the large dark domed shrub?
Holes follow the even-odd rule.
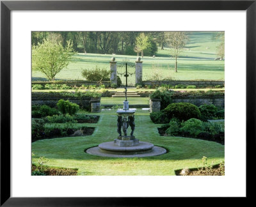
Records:
[[[199,119],[188,119],[188,121],[185,121],[184,123],[181,123],[180,130],[185,135],[191,135],[193,137],[196,137],[201,132],[204,132],[204,124]]]

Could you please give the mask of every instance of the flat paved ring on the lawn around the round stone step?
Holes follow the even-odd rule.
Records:
[[[166,153],[166,150],[164,148],[160,148],[154,145],[152,149],[146,151],[108,151],[102,150],[99,147],[94,147],[86,150],[86,153],[90,155],[98,155],[101,157],[150,157],[156,155],[163,155],[164,153]]]

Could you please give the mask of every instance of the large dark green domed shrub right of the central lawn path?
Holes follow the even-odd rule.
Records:
[[[168,118],[177,118],[180,121],[187,121],[191,118],[199,119],[201,116],[198,107],[190,103],[169,104],[163,112],[168,116]]]

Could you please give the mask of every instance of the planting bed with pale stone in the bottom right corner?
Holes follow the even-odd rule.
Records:
[[[214,165],[211,170],[204,169],[180,169],[175,171],[177,176],[223,176],[225,167],[221,169],[220,165]]]

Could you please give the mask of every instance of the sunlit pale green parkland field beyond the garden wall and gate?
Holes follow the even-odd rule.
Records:
[[[150,79],[152,68],[157,66],[166,77],[175,80],[224,80],[224,62],[214,61],[216,58],[216,47],[219,40],[213,39],[214,33],[193,32],[189,34],[189,44],[180,53],[178,59],[178,72],[174,72],[175,59],[170,58],[170,49],[159,49],[156,57],[145,56],[143,61],[143,80]],[[61,70],[56,75],[56,79],[83,79],[81,72],[83,69],[100,68],[109,69],[109,61],[112,54],[76,54],[74,62],[67,68]],[[115,55],[116,61],[120,62],[125,57],[131,62],[136,61],[136,56]],[[45,76],[41,72],[32,72],[33,80],[44,80]]]

